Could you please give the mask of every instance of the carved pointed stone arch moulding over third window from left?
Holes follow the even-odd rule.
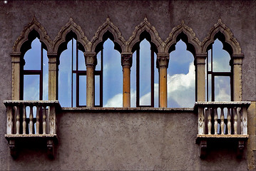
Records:
[[[98,43],[101,43],[103,41],[103,35],[107,31],[111,32],[113,34],[114,40],[116,43],[118,43],[119,46],[121,46],[122,52],[126,50],[126,40],[123,38],[121,31],[119,31],[118,27],[113,24],[113,22],[107,17],[106,21],[98,27],[95,35],[91,39],[91,51],[96,51],[96,46]]]

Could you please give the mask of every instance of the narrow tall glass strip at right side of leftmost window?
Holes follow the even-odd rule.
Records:
[[[43,49],[43,100],[48,100],[48,57]]]

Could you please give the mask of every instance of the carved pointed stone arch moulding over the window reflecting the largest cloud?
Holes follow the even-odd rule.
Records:
[[[200,53],[200,41],[197,36],[195,36],[195,32],[192,28],[187,26],[184,21],[181,21],[181,24],[173,28],[171,33],[169,34],[168,38],[165,41],[165,53],[170,53],[169,49],[175,45],[179,40],[177,39],[184,39],[185,43],[187,44],[187,49],[191,53],[193,53],[194,57],[195,54]]]

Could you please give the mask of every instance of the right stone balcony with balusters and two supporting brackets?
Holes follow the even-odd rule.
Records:
[[[198,109],[198,138],[205,157],[207,141],[216,138],[238,140],[238,156],[242,155],[247,134],[247,108],[250,102],[196,102]]]

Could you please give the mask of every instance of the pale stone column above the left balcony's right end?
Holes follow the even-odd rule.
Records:
[[[58,99],[58,55],[47,53],[48,56],[48,100]]]

